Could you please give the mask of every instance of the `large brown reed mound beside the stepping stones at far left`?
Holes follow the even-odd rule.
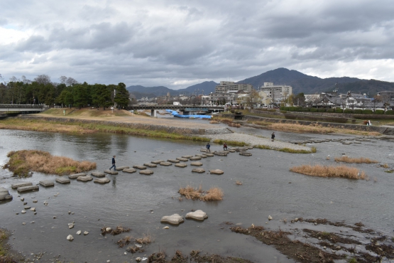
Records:
[[[96,168],[96,163],[91,161],[75,161],[68,157],[52,156],[48,151],[10,151],[7,157],[10,159],[5,167],[21,177],[28,176],[30,171],[64,176]]]

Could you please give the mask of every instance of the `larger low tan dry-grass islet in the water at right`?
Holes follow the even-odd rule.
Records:
[[[366,174],[359,169],[348,166],[294,166],[290,171],[306,174],[307,176],[340,177],[349,179],[366,179]]]

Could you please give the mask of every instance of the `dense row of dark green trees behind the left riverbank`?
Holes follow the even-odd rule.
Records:
[[[0,104],[46,104],[62,107],[126,107],[130,104],[126,85],[87,84],[72,77],[62,76],[52,82],[48,75],[38,75],[34,80],[11,77],[5,82],[0,74]]]

